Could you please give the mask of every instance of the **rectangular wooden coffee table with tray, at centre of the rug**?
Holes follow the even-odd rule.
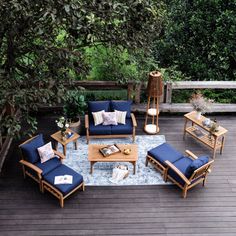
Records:
[[[104,157],[99,151],[100,148],[107,146],[106,144],[89,144],[88,145],[88,160],[90,161],[90,174],[93,173],[93,165],[96,162],[130,162],[133,164],[133,173],[136,172],[136,161],[138,160],[138,145],[137,144],[116,144],[121,152]],[[131,149],[129,155],[125,155],[123,150]]]

